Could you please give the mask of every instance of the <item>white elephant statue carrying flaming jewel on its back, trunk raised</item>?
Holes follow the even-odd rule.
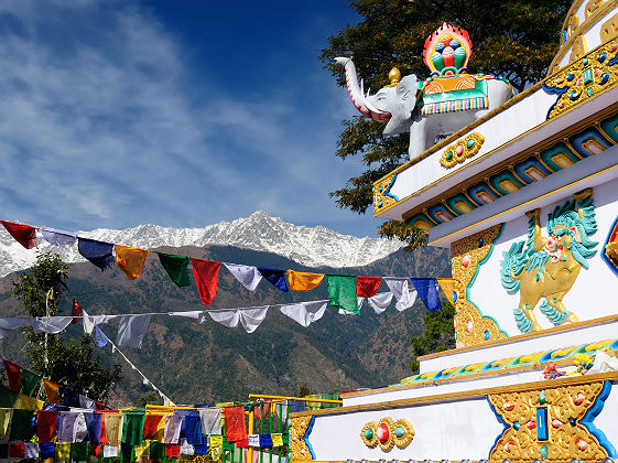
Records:
[[[467,33],[443,24],[425,42],[425,64],[432,76],[419,82],[411,74],[400,80],[399,69],[393,68],[391,83],[375,95],[364,94],[351,58],[336,57],[335,62],[345,67],[351,101],[364,116],[386,122],[384,134],[410,132],[413,159],[512,97],[507,82],[465,73],[470,53]]]

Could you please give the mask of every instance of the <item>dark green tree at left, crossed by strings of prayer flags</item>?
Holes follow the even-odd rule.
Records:
[[[13,281],[13,295],[26,316],[58,315],[58,304],[67,290],[68,266],[56,254],[41,252],[32,268]],[[65,341],[59,334],[36,334],[23,329],[32,369],[57,384],[94,400],[104,401],[121,378],[120,365],[106,369],[94,353],[93,337]]]

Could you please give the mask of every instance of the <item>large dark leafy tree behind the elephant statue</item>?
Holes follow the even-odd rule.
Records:
[[[473,41],[469,73],[509,79],[518,91],[541,80],[559,47],[564,17],[572,0],[354,0],[361,21],[328,37],[321,60],[345,86],[345,73],[336,56],[353,56],[365,88],[381,88],[397,66],[401,75],[429,75],[423,64],[425,39],[443,21],[465,29]],[[350,105],[350,110],[354,108]],[[367,166],[341,189],[330,193],[341,208],[364,214],[371,206],[371,185],[408,161],[409,134],[383,136],[384,126],[360,116],[344,120],[337,155],[362,157]],[[426,233],[405,223],[386,222],[380,235],[399,237],[413,250]]]

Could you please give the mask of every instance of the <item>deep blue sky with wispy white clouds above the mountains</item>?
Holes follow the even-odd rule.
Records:
[[[199,227],[257,209],[357,236],[328,192],[347,91],[317,60],[345,0],[0,6],[0,218]]]

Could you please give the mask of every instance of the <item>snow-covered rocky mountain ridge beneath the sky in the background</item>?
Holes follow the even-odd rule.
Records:
[[[41,227],[45,228],[45,226]],[[77,232],[77,235],[144,249],[160,246],[235,246],[274,252],[307,267],[335,268],[366,266],[403,246],[398,240],[357,238],[323,226],[306,227],[290,224],[279,217],[271,217],[263,211],[254,212],[246,218],[220,222],[204,228],[139,225],[123,230],[98,228],[91,232]],[[36,243],[39,249],[54,250],[66,262],[85,261],[77,251],[77,245],[52,246],[40,234]],[[24,249],[0,226],[0,277],[29,268],[35,258],[34,249]]]

